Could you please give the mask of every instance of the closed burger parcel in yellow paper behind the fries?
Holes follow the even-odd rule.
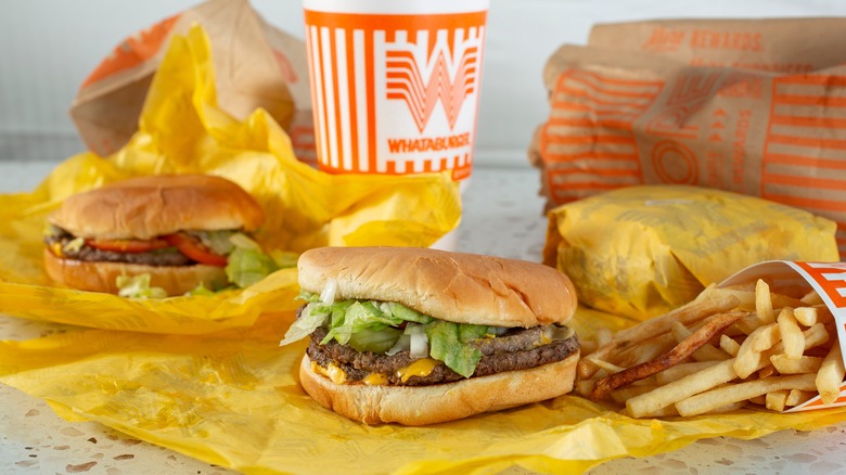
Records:
[[[764,260],[838,260],[836,224],[808,211],[687,185],[614,190],[549,213],[543,261],[579,303],[645,319]]]

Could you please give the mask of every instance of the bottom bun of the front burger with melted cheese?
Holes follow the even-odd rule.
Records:
[[[368,425],[426,425],[514,408],[573,390],[579,354],[529,370],[508,371],[432,386],[337,385],[311,371],[306,355],[299,380],[309,396],[341,415]]]

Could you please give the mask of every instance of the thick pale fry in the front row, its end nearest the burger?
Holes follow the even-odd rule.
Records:
[[[656,414],[661,409],[674,405],[695,394],[712,389],[738,377],[733,360],[720,361],[698,373],[655,388],[655,390],[636,396],[626,401],[626,410],[632,418],[645,418]]]

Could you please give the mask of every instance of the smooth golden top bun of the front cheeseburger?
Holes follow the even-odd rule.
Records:
[[[566,323],[576,291],[536,262],[419,247],[321,247],[299,257],[299,285],[335,298],[397,301],[436,319],[498,326]]]

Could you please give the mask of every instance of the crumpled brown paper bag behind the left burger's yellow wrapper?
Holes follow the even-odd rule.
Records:
[[[171,36],[194,23],[211,40],[221,108],[241,120],[267,110],[291,136],[297,157],[317,163],[305,43],[265,22],[247,0],[201,3],[118,44],[70,106],[86,145],[107,156],[129,141]]]

